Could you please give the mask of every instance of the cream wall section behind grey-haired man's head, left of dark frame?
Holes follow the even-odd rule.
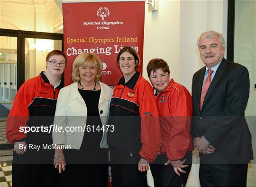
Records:
[[[227,39],[228,1],[181,1],[180,19],[180,83],[190,92],[194,72],[202,68],[197,37],[204,31],[215,30]]]

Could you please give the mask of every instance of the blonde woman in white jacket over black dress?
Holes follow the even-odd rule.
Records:
[[[73,62],[74,83],[60,90],[53,131],[60,186],[107,186],[106,134],[114,127],[107,127],[112,89],[101,71],[97,55],[82,53]]]

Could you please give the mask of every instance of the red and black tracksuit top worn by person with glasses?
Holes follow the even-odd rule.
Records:
[[[57,97],[62,82],[54,89],[44,72],[27,80],[18,89],[6,124],[6,138],[14,144],[52,144],[52,133],[20,132],[19,127],[41,127],[53,124]]]

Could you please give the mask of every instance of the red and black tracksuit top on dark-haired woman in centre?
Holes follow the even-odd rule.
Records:
[[[152,86],[136,72],[125,83],[124,77],[115,85],[110,102],[108,144],[154,161],[160,150],[161,129]]]

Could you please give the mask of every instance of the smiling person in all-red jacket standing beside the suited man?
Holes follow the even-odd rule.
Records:
[[[147,75],[155,88],[155,100],[162,132],[160,153],[150,164],[155,187],[186,185],[192,165],[190,122],[192,99],[188,90],[170,79],[163,59],[151,59]]]

